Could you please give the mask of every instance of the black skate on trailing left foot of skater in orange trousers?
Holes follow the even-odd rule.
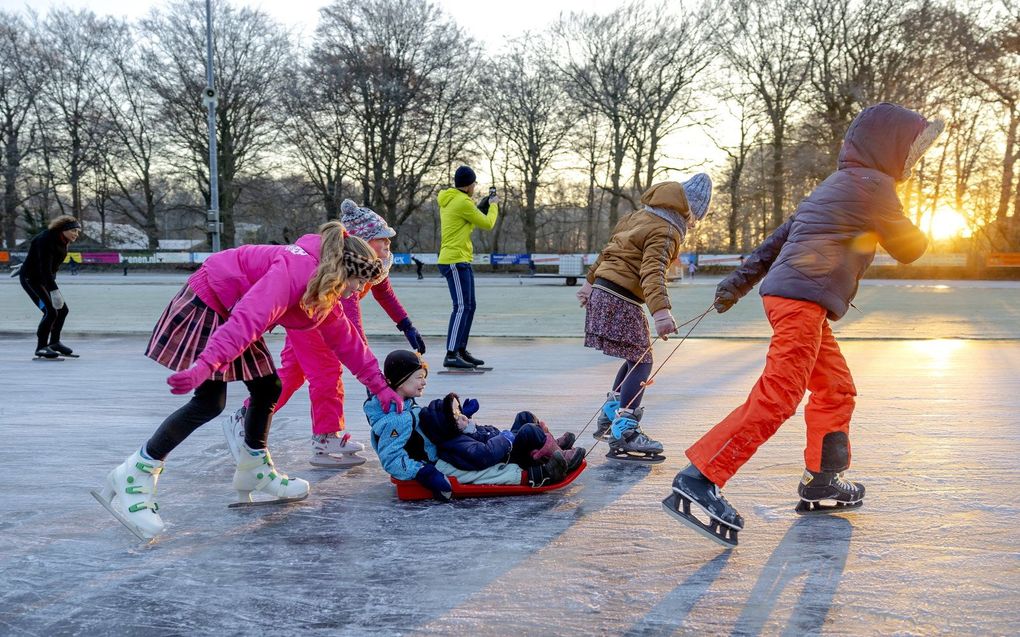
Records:
[[[692,505],[708,516],[708,522],[692,513]],[[728,548],[736,546],[736,533],[744,530],[741,514],[726,501],[719,487],[694,467],[676,474],[673,492],[662,500],[662,508],[680,524]]]

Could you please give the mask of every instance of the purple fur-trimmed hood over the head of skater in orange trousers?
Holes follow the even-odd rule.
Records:
[[[838,167],[873,168],[903,181],[945,126],[897,104],[869,106],[847,129]]]

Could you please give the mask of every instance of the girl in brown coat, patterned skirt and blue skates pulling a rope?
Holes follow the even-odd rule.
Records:
[[[687,229],[705,217],[711,199],[712,179],[705,173],[683,183],[653,184],[642,195],[644,206],[616,224],[577,293],[586,310],[584,347],[623,359],[595,432],[597,439],[609,440],[607,458],[612,460],[665,460],[662,443],[645,435],[639,425],[644,383],[652,373],[645,306],[660,338],[676,331],[666,270],[679,255]]]

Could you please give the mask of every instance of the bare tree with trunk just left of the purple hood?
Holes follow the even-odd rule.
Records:
[[[757,94],[771,128],[772,216],[778,227],[785,213],[784,149],[794,108],[810,72],[811,45],[804,9],[796,0],[729,0],[730,41],[726,58]]]

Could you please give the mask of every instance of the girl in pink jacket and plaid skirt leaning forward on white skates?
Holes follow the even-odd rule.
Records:
[[[252,491],[275,498],[269,501],[306,497],[308,482],[277,472],[266,449],[280,382],[262,334],[277,325],[319,334],[387,409],[395,401],[401,410],[375,357],[337,308],[339,298],[355,294],[381,268],[368,244],[348,236],[340,221],[293,246],[243,246],[209,257],[170,301],[146,350],[174,371],[166,380],[172,393],[195,393],[93,495],[140,538],[160,533],[155,495],[164,459],[222,412],[226,383],[241,380],[250,407],[234,473],[239,497],[250,502]]]

